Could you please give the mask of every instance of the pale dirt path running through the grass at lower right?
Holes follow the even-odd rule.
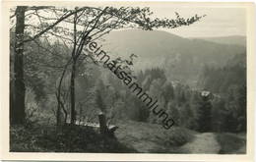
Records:
[[[221,150],[221,146],[213,133],[196,135],[193,141],[186,143],[181,148],[187,153],[216,154]]]

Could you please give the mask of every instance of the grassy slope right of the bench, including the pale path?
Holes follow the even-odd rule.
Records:
[[[118,124],[118,141],[143,153],[245,153],[245,135],[226,133],[199,134],[173,127],[127,121]]]

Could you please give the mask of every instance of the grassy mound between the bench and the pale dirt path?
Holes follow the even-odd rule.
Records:
[[[139,152],[183,153],[179,146],[193,140],[195,132],[172,127],[163,129],[160,125],[126,121],[118,124],[118,140]]]

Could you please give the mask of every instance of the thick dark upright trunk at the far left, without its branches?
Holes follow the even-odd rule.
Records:
[[[26,7],[16,9],[15,49],[14,49],[14,97],[10,107],[11,124],[25,122],[25,83],[24,83],[24,28]]]

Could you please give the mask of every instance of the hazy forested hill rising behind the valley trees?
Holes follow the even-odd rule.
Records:
[[[121,37],[121,39],[119,39]],[[239,41],[240,37],[233,37]],[[138,55],[135,70],[160,67],[170,80],[195,85],[205,65],[223,67],[234,55],[244,54],[245,46],[205,39],[189,39],[165,31],[128,29],[105,37],[104,49],[113,57]]]

